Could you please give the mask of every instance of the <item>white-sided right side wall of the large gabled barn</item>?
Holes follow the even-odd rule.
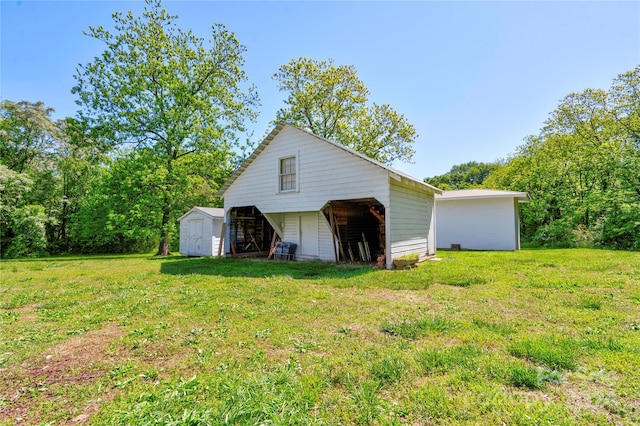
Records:
[[[433,195],[391,180],[391,257],[435,253]]]

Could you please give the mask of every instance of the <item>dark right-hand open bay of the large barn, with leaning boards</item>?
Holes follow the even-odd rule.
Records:
[[[385,209],[375,198],[333,200],[324,207],[341,262],[376,262],[385,255]]]

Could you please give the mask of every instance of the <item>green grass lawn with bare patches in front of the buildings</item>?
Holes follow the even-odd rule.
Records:
[[[640,253],[0,263],[0,424],[640,423]]]

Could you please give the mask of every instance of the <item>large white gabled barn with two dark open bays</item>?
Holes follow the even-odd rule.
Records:
[[[280,123],[221,187],[225,253],[268,252],[276,235],[295,258],[376,261],[435,254],[438,188],[347,147]],[[274,235],[275,234],[275,235]]]

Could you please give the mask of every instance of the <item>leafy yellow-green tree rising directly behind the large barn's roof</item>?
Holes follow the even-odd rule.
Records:
[[[288,94],[276,122],[289,122],[384,164],[411,161],[415,128],[390,105],[369,105],[369,90],[352,65],[298,58],[273,78]]]

